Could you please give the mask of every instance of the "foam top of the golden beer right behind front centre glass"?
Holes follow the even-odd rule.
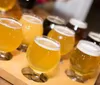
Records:
[[[62,35],[65,35],[65,36],[74,36],[75,35],[75,32],[73,30],[71,30],[65,26],[55,25],[54,30]]]

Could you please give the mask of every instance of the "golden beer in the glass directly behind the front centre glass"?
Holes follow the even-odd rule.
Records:
[[[74,47],[74,43],[75,43],[74,36],[66,36],[66,35],[60,34],[54,29],[49,32],[48,36],[60,42],[61,55],[66,55]]]

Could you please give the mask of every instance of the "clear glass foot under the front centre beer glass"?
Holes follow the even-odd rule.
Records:
[[[35,73],[30,67],[23,68],[22,74],[29,80],[33,80],[35,82],[44,83],[48,80],[48,77],[44,73]]]

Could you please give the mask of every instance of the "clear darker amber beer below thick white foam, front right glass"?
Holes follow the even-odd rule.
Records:
[[[89,56],[75,49],[70,58],[71,69],[79,76],[91,78],[97,73],[100,57]]]

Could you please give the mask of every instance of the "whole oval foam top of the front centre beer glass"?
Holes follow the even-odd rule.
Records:
[[[36,37],[35,43],[48,50],[57,51],[60,49],[60,44],[51,38]]]

